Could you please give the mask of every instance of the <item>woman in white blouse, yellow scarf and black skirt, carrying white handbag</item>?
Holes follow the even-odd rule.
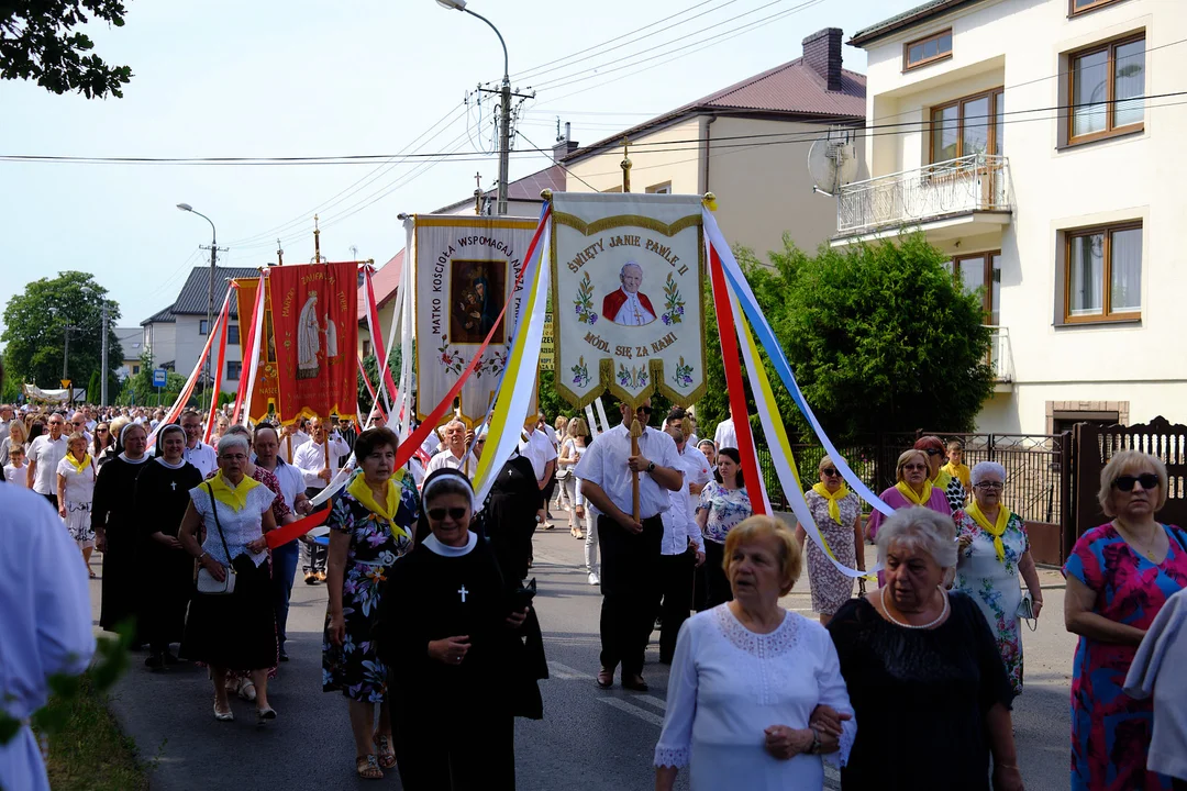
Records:
[[[275,529],[275,495],[245,474],[250,458],[247,436],[218,440],[218,474],[190,490],[190,504],[177,538],[214,578],[234,576],[234,591],[197,591],[190,602],[182,656],[210,666],[215,719],[235,719],[227,700],[227,671],[246,671],[255,683],[256,715],[262,725],[277,713],[268,706],[268,669],[277,662],[277,620],[272,606],[268,542]],[[198,535],[205,531],[199,544]]]

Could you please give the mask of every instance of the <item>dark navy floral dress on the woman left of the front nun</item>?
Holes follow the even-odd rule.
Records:
[[[355,473],[361,476],[362,471]],[[379,658],[372,639],[379,618],[380,600],[392,564],[412,550],[419,503],[417,487],[406,471],[393,476],[400,487],[400,505],[388,522],[373,513],[348,491],[334,502],[326,525],[350,536],[347,566],[342,575],[342,617],[347,636],[342,645],[330,640],[330,611],[325,612],[322,638],[322,691],[342,693],[364,703],[387,700],[387,666]],[[392,523],[402,528],[398,532]]]

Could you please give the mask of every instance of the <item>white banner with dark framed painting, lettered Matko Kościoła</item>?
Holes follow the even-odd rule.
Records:
[[[449,395],[507,305],[490,345],[462,385],[459,414],[470,428],[487,416],[520,315],[527,310],[527,264],[535,219],[417,215],[417,419]],[[508,305],[508,300],[510,304]]]

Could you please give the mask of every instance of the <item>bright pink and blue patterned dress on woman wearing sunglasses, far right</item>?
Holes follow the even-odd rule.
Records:
[[[1093,612],[1118,624],[1149,629],[1173,594],[1187,587],[1187,534],[1162,525],[1169,548],[1161,563],[1134,551],[1117,529],[1102,524],[1075,542],[1064,563],[1097,594]],[[1080,637],[1072,668],[1072,791],[1155,791],[1170,778],[1145,770],[1154,734],[1154,701],[1122,688],[1136,645]]]

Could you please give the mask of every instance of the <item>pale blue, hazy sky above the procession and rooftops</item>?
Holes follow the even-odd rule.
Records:
[[[575,140],[595,142],[798,58],[804,37],[823,27],[848,38],[918,4],[470,0],[469,8],[503,34],[512,85],[537,94],[522,106],[516,146],[551,148],[558,119]],[[351,260],[355,248],[357,259],[383,263],[404,247],[400,212],[471,196],[476,173],[483,189],[495,186],[496,103],[463,100],[502,76],[502,52],[469,14],[433,0],[127,5],[123,27],[87,27],[101,57],[132,66],[125,97],[88,101],[2,81],[0,154],[457,154],[300,166],[0,161],[0,305],[33,280],[78,269],[119,302],[119,326],[137,326],[173,302],[192,267],[209,264],[198,245],[210,243],[210,225],[178,203],[215,223],[229,248],[220,264],[275,261],[278,236],[286,262],[310,261],[315,213],[323,255]],[[565,7],[580,11],[566,17]],[[845,46],[844,60],[864,72],[863,51]],[[514,153],[510,178],[550,162]]]

